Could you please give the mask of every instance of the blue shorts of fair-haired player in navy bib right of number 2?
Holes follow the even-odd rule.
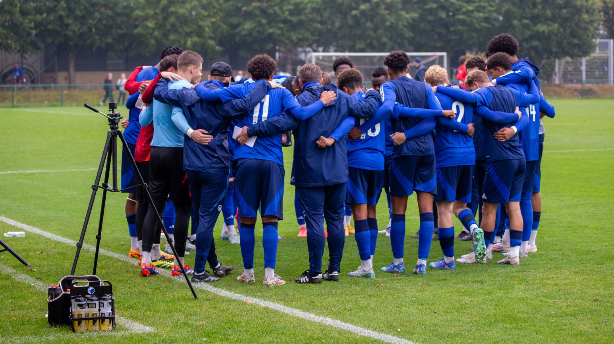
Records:
[[[525,168],[524,158],[488,162],[488,169],[484,175],[482,201],[500,204],[520,201]]]

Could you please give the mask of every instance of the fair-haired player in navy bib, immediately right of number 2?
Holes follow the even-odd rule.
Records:
[[[510,139],[500,141],[496,134],[503,128],[511,128],[517,132],[526,126],[528,118],[521,116],[521,112],[516,107],[527,107],[538,102],[540,97],[537,86],[532,83],[529,94],[494,86],[489,81],[488,75],[482,71],[473,71],[468,74],[466,83],[472,93],[442,86],[437,86],[437,92],[447,94],[457,101],[477,104],[475,113],[483,117],[486,161],[488,162],[482,194],[481,226],[484,230],[484,240],[491,241],[497,208],[499,204],[505,204],[510,217],[511,248],[508,256],[499,263],[519,265],[519,249],[523,234],[523,217],[519,201],[523,190],[526,161],[518,135],[514,134]],[[489,116],[484,112],[486,107],[497,111],[497,115]],[[505,116],[505,113],[508,115]],[[515,126],[517,120],[520,128]],[[476,254],[468,254],[457,259],[457,262],[485,263],[486,259],[480,259]]]

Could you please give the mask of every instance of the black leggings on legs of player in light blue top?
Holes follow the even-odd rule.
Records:
[[[153,201],[155,208],[158,210],[160,217],[164,213],[164,208],[166,207],[166,201]],[[185,239],[188,235],[188,223],[190,222],[190,210],[192,210],[191,202],[181,202],[175,203],[175,234],[174,234],[174,245],[175,250],[177,251],[177,255],[183,257],[185,254]],[[138,214],[138,211],[137,211]],[[137,215],[138,216],[138,215]],[[152,243],[156,232],[158,237],[158,242],[160,243],[160,229],[161,224],[158,221],[158,216],[156,215],[153,207],[149,207],[147,210],[147,216],[145,216],[145,220],[142,226],[142,237],[143,237],[143,251],[151,252]],[[138,232],[137,232],[138,234]]]

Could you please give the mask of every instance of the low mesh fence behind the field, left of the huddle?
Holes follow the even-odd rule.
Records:
[[[0,85],[0,107],[99,104],[106,93],[105,87],[111,88],[112,101],[119,102],[120,90],[114,83]],[[127,97],[128,93],[124,91],[123,95]],[[111,100],[105,99],[108,101]]]

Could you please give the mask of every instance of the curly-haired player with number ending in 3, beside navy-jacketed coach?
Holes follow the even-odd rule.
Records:
[[[364,101],[362,74],[358,69],[345,69],[337,75],[337,86],[349,96]],[[346,121],[348,121],[346,119]],[[349,118],[354,128],[365,122],[363,118]],[[360,266],[349,277],[375,278],[373,254],[378,238],[375,208],[384,185],[383,123],[348,141],[348,191],[346,204],[354,216],[354,239],[358,245]]]

